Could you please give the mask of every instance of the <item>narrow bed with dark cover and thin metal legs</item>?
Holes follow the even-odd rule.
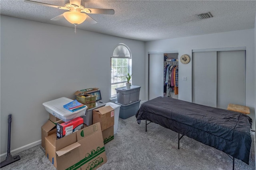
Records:
[[[226,109],[160,96],[144,102],[136,113],[141,120],[157,123],[249,164],[252,119]],[[147,123],[146,123],[147,125]]]

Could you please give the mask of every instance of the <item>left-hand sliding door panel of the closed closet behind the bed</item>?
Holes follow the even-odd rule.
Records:
[[[192,101],[216,107],[216,52],[193,53]]]

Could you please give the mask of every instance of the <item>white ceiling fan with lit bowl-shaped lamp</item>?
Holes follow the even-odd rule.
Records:
[[[42,6],[50,6],[54,8],[59,8],[62,10],[68,10],[68,12],[64,12],[63,14],[52,18],[51,20],[60,20],[61,18],[65,18],[67,21],[75,25],[75,32],[76,32],[76,25],[83,23],[86,18],[89,23],[97,23],[96,20],[88,16],[87,14],[115,14],[113,9],[99,9],[99,8],[85,8],[81,5],[81,0],[70,0],[69,4],[65,6],[56,6],[52,4],[46,4],[42,2],[35,2],[32,0],[24,0],[24,2],[28,2],[31,4],[38,4]]]

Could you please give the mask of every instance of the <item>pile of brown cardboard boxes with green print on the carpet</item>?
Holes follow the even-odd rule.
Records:
[[[110,106],[93,110],[93,124],[57,140],[56,125],[63,121],[50,115],[42,126],[42,147],[52,164],[60,170],[96,169],[107,162],[104,144],[114,139],[114,109]],[[77,118],[78,122],[81,119]],[[68,122],[66,122],[67,124]],[[79,124],[79,123],[77,123]],[[76,125],[72,125],[74,129]],[[61,136],[61,135],[60,135]]]

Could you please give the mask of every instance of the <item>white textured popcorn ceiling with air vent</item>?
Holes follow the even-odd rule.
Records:
[[[66,0],[34,0],[64,6]],[[58,8],[29,4],[23,0],[0,0],[0,14],[26,20],[74,27],[64,18],[50,19],[66,12]],[[114,9],[114,15],[89,14],[96,24],[84,23],[79,29],[141,41],[170,39],[254,28],[256,1],[244,0],[82,0],[86,8]],[[213,18],[196,14],[210,12]]]

